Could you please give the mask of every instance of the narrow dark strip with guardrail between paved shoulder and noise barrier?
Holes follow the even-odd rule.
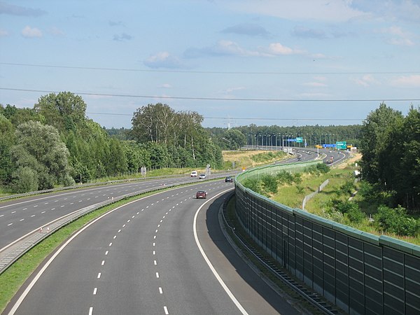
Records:
[[[297,293],[299,293],[299,295],[304,297],[304,299],[307,300],[312,305],[314,305],[314,307],[318,308],[320,311],[323,311],[325,314],[329,314],[329,315],[342,314],[337,309],[335,309],[335,307],[333,307],[330,303],[325,302],[325,300],[323,300],[322,297],[320,297],[316,293],[311,292],[307,288],[304,288],[302,284],[297,283],[290,276],[288,276],[286,272],[283,272],[281,269],[279,269],[279,267],[276,267],[274,263],[272,263],[263,255],[261,255],[261,253],[255,249],[255,247],[249,244],[249,242],[245,239],[245,237],[243,237],[242,235],[236,232],[235,228],[233,228],[232,225],[230,225],[228,220],[225,218],[225,209],[227,207],[227,204],[230,198],[232,198],[232,195],[226,198],[225,203],[223,204],[223,209],[221,211],[221,216],[223,218],[223,222],[225,223],[225,226],[230,228],[230,230],[232,231],[232,234],[235,235],[236,239],[239,241],[241,246],[245,248],[246,251],[248,251],[248,253],[251,253],[251,255],[253,255],[253,257],[256,258],[265,267],[265,269],[267,269],[267,271],[274,274],[274,276],[276,276],[277,279],[280,279],[287,286],[289,286],[290,288],[295,290]],[[229,235],[227,235],[227,237],[229,238]]]

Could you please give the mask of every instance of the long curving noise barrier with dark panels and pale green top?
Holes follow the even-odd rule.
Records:
[[[349,314],[420,314],[420,246],[286,207],[241,184],[316,163],[239,174],[235,211],[243,228],[290,274]]]

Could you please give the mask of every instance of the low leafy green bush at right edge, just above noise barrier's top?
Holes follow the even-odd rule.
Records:
[[[407,211],[398,206],[389,208],[381,206],[374,221],[380,230],[396,235],[416,237],[420,233],[420,221],[407,216]]]

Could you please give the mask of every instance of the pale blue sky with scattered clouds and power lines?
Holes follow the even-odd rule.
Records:
[[[130,128],[148,104],[204,127],[353,125],[420,105],[420,0],[1,1],[0,104],[79,94]]]

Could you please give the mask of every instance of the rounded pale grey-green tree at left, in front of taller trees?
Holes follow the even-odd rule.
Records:
[[[29,167],[38,174],[39,189],[64,183],[69,174],[69,150],[55,127],[29,121],[19,125],[17,144],[11,153],[17,167]]]

